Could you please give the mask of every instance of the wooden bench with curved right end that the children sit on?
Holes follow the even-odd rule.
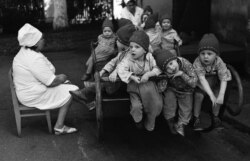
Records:
[[[93,61],[96,62],[95,58],[95,52],[94,52],[94,43],[91,43],[91,50],[92,50],[92,56]],[[180,48],[180,54],[182,56],[182,49]],[[197,56],[197,54],[196,54]],[[232,74],[232,81],[228,83],[228,88],[225,95],[225,103],[224,107],[229,111],[232,115],[238,115],[241,112],[242,106],[243,106],[243,87],[241,83],[241,79],[239,77],[238,72],[231,66],[227,65],[228,69],[231,71]],[[125,97],[110,97],[105,96],[101,92],[101,83],[105,81],[109,81],[108,77],[100,77],[99,71],[94,71],[94,83],[95,83],[95,90],[96,90],[96,98],[95,98],[95,106],[96,106],[96,122],[97,122],[97,138],[99,141],[103,140],[104,136],[104,123],[103,123],[103,103],[104,102],[114,102],[114,101],[129,101],[129,95],[124,95]],[[159,77],[154,77],[152,79],[163,79],[165,78],[165,75],[161,75]],[[120,80],[118,80],[120,81]],[[234,92],[237,96],[236,102],[231,102],[229,100],[235,100],[235,95],[231,95],[230,93]],[[236,92],[236,93],[235,93]]]

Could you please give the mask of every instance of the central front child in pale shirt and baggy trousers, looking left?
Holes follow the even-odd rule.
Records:
[[[130,38],[130,55],[118,64],[117,71],[121,80],[128,84],[130,114],[134,121],[141,128],[144,112],[144,126],[148,131],[153,131],[155,119],[162,109],[162,97],[156,84],[149,80],[159,75],[160,70],[148,47],[148,35],[144,31],[135,31]]]

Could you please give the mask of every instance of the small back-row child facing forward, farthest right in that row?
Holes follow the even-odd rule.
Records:
[[[177,32],[172,28],[170,16],[167,14],[161,16],[160,25],[162,28],[162,32],[161,32],[162,49],[169,50],[173,54],[177,55],[174,49],[175,41],[178,43],[179,46],[181,46],[182,40],[178,36]]]

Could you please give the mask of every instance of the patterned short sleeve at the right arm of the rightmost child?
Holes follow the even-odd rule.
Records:
[[[218,77],[221,81],[230,81],[232,79],[230,71],[220,57],[217,57],[216,67],[218,70]]]

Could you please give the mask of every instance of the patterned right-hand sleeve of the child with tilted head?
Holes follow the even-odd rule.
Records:
[[[181,58],[181,61],[183,65],[183,74],[181,75],[182,79],[189,86],[195,88],[197,85],[198,78],[197,78],[197,75],[194,71],[192,64],[184,58]]]

